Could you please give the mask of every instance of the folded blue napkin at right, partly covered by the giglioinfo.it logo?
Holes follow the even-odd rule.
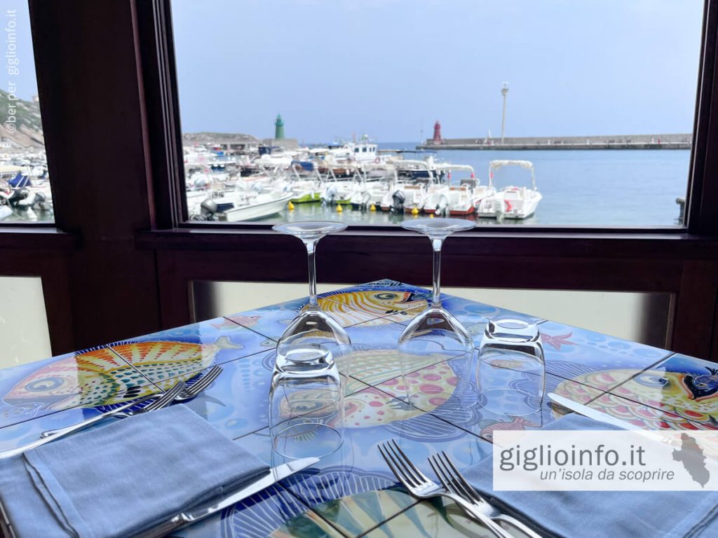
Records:
[[[618,430],[574,413],[547,430]],[[715,537],[717,491],[493,491],[492,460],[465,476],[497,508],[544,537]]]

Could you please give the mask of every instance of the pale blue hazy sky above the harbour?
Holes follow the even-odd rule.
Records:
[[[690,132],[702,0],[173,0],[182,131],[328,142]],[[18,95],[37,93],[27,1]],[[6,88],[4,88],[6,89]]]

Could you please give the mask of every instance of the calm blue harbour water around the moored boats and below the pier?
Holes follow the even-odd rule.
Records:
[[[414,149],[416,143],[380,143],[383,149]],[[516,159],[533,162],[536,184],[543,199],[536,214],[526,220],[505,220],[504,225],[673,227],[679,224],[676,198],[686,197],[689,150],[536,150],[536,151],[453,151],[404,154],[404,159],[424,159],[468,164],[480,184],[488,184],[489,162]],[[467,174],[452,174],[458,184]],[[531,184],[525,169],[503,168],[495,173],[495,186]],[[296,204],[293,211],[267,217],[264,222],[330,219],[348,224],[390,224],[411,215],[362,212],[351,207],[323,207],[320,203]],[[475,217],[468,217],[475,218]],[[493,219],[479,219],[491,225]]]

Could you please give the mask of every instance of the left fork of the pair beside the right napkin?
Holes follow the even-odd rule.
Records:
[[[484,524],[495,536],[499,538],[513,538],[508,532],[493,522],[489,516],[477,510],[462,496],[454,494],[452,491],[448,491],[434,481],[429,480],[424,473],[419,471],[419,468],[417,468],[414,463],[411,463],[411,460],[409,460],[406,454],[399,448],[395,440],[391,440],[388,443],[380,443],[378,447],[379,452],[381,452],[381,457],[384,458],[391,472],[393,472],[396,478],[398,478],[398,481],[409,490],[411,495],[418,499],[432,499],[438,496],[447,497],[461,506],[472,518]]]

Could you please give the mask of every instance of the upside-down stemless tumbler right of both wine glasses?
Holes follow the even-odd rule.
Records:
[[[541,411],[546,366],[535,323],[499,318],[486,324],[479,347],[479,405],[513,417]]]

